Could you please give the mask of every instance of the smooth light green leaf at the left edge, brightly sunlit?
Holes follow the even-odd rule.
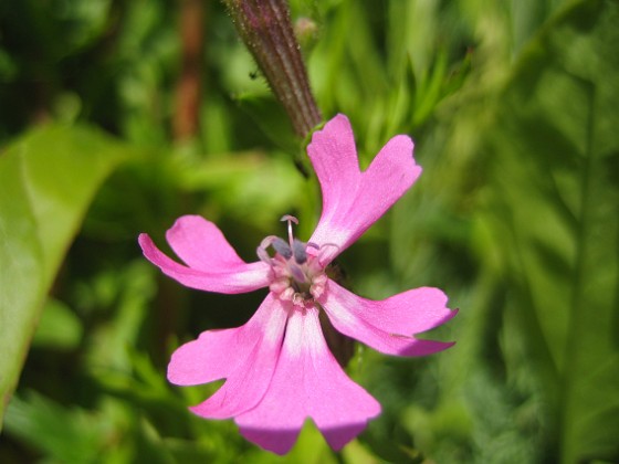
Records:
[[[0,156],[0,418],[84,213],[128,156],[88,128],[34,129]]]

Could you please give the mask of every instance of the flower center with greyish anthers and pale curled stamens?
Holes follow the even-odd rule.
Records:
[[[282,221],[288,223],[288,241],[270,235],[258,247],[258,256],[271,266],[271,292],[283,300],[305,307],[323,295],[327,284],[318,259],[319,246],[294,238],[292,223],[298,224],[296,218],[284,215]],[[273,256],[269,254],[269,247],[275,252]]]

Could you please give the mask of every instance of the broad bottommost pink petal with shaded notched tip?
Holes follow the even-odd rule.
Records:
[[[339,450],[379,413],[380,404],[342,370],[326,346],[317,309],[308,308],[291,314],[269,390],[235,422],[245,439],[285,454],[307,418]]]

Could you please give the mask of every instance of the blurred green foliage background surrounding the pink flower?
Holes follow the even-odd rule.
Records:
[[[458,344],[358,347],[348,370],[384,414],[340,453],[310,423],[280,458],[190,414],[217,386],[168,384],[170,352],[262,294],[182,288],[137,234],[164,245],[199,213],[248,260],[284,213],[307,236],[304,141],[218,2],[190,137],[182,2],[1,2],[0,462],[619,461],[619,2],[291,3],[315,31],[318,105],[350,118],[361,164],[406,133],[424,169],[342,256],[350,286],[443,288],[460,314],[432,336]]]

